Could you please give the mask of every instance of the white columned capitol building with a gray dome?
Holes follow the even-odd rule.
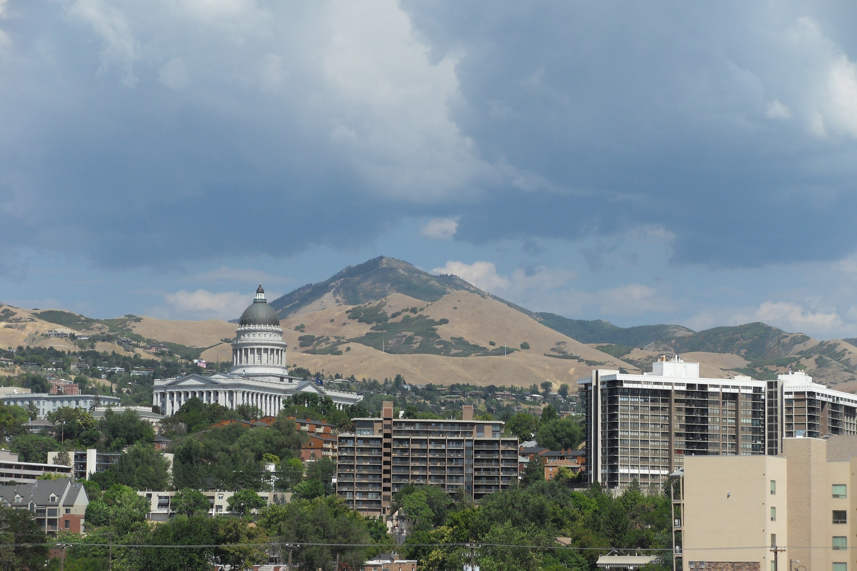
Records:
[[[238,322],[230,372],[157,379],[152,404],[169,416],[196,397],[233,409],[243,404],[259,407],[265,415],[275,416],[288,397],[302,393],[328,396],[337,408],[363,400],[362,395],[327,390],[313,381],[290,377],[285,365],[286,347],[277,312],[268,305],[260,283],[255,300]]]

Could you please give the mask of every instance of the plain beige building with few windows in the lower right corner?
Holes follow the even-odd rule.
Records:
[[[676,474],[676,562],[685,571],[857,571],[854,473],[857,436],[783,438],[777,456],[688,456]]]

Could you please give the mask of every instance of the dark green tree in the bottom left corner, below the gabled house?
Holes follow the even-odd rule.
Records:
[[[48,562],[45,543],[45,532],[29,510],[0,507],[0,568],[44,568]]]

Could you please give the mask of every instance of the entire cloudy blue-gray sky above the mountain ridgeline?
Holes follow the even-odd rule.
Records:
[[[857,336],[857,4],[0,0],[0,300],[233,318],[377,255]]]

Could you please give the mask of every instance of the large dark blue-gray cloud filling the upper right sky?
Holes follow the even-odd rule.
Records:
[[[455,116],[481,156],[547,181],[467,211],[459,237],[659,223],[675,261],[715,265],[854,249],[853,7],[406,5],[435,58],[465,54]]]

